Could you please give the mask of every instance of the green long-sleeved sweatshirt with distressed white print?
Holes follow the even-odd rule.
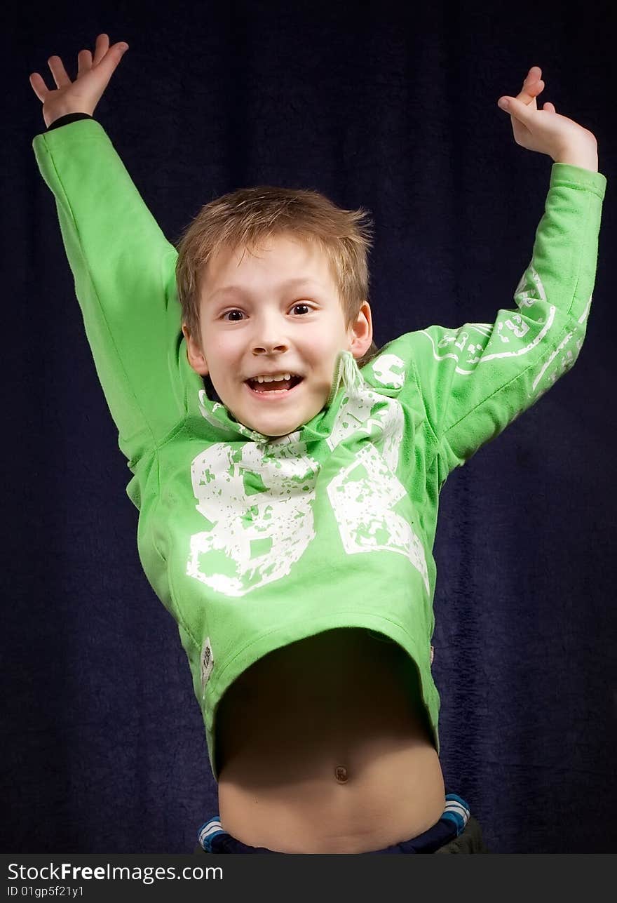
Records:
[[[190,368],[177,251],[103,127],[75,121],[32,146],[133,475],[143,570],[178,623],[215,779],[216,709],[230,684],[273,649],[331,628],[405,649],[438,751],[439,492],[576,361],[605,177],[553,163],[515,307],[493,323],[407,332],[362,369],[342,351],[323,409],[269,438],[211,401]]]

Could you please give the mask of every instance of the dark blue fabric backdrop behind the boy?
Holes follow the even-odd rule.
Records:
[[[8,16],[0,848],[189,852],[216,812],[32,152],[45,126],[29,74],[55,87],[58,54],[75,78],[106,32],[130,50],[95,116],[170,242],[244,185],[362,205],[380,346],[513,306],[551,161],[514,143],[496,101],[531,65],[542,100],[597,136],[608,188],[585,346],[447,481],[434,668],[447,784],[493,852],[614,852],[614,5],[35,0]]]

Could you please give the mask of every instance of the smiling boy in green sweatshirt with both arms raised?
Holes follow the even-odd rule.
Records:
[[[219,813],[200,845],[486,852],[438,759],[437,499],[576,360],[606,182],[594,135],[537,109],[532,68],[508,98],[513,134],[554,165],[517,309],[379,352],[360,211],[245,189],[170,247],[91,119],[120,56],[99,35],[74,83],[58,58],[57,91],[31,76],[48,126],[33,147],[133,473],[143,568],[204,716]]]

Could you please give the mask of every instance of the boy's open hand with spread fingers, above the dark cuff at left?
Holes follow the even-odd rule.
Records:
[[[62,65],[60,57],[53,56],[47,61],[58,90],[50,91],[38,72],[32,72],[30,84],[37,98],[42,101],[45,125],[67,113],[94,113],[102,98],[115,67],[122,59],[128,44],[124,42],[109,46],[109,37],[99,34],[94,60],[90,51],[78,52],[78,75],[71,81]]]

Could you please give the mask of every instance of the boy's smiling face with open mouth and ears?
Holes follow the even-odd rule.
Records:
[[[317,244],[288,235],[270,237],[253,254],[222,248],[207,264],[200,297],[201,348],[187,340],[189,363],[209,374],[235,419],[267,436],[293,433],[321,411],[334,378],[336,355],[361,358],[373,340],[371,309],[364,302],[355,324],[345,315],[328,258]],[[293,282],[293,284],[292,284]],[[247,379],[289,373],[297,386]],[[253,384],[254,385],[254,384]]]

